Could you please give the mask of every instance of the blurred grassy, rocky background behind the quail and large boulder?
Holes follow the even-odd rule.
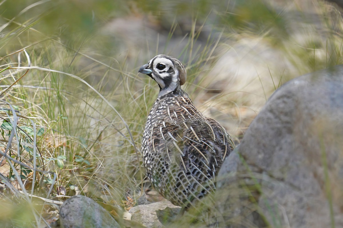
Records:
[[[44,227],[55,219],[56,206],[33,195],[81,194],[119,211],[162,200],[140,162],[158,86],[139,67],[157,54],[180,59],[194,105],[239,144],[282,84],[342,63],[340,5],[1,1],[0,148],[10,157],[0,167],[2,223]]]

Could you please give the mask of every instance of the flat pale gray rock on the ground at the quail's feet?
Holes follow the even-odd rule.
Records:
[[[177,215],[181,209],[181,207],[175,206],[170,201],[161,201],[134,206],[129,210],[129,213],[132,215],[131,220],[133,221],[137,221],[146,227],[160,228],[164,227],[164,225],[159,220],[161,218],[157,216],[156,211],[165,210],[166,207],[169,207],[175,215]]]

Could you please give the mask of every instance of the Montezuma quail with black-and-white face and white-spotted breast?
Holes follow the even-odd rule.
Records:
[[[234,143],[226,130],[204,117],[181,90],[186,69],[176,58],[157,55],[139,72],[159,86],[142,139],[147,177],[173,204],[193,206],[215,189],[215,175]]]

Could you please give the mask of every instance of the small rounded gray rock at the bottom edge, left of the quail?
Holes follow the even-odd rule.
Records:
[[[74,196],[66,200],[60,209],[60,220],[65,228],[120,227],[103,207],[85,196]]]

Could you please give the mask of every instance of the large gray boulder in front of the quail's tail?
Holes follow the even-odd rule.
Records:
[[[217,186],[227,227],[343,227],[343,65],[278,89]]]

